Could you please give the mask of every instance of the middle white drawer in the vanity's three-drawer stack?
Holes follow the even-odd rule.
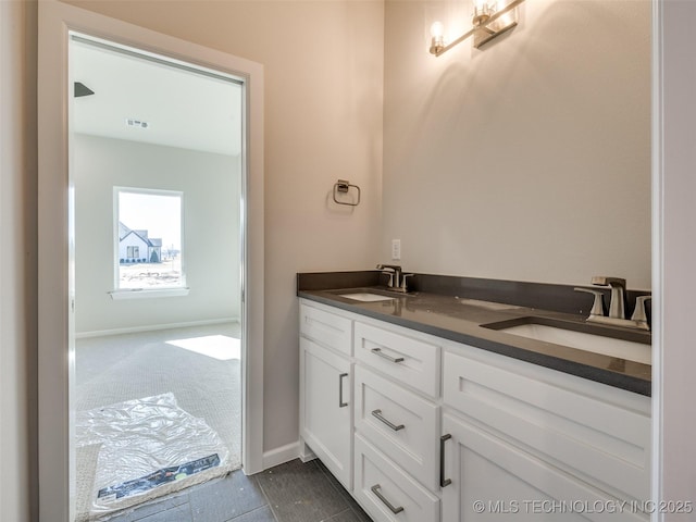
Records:
[[[356,430],[426,487],[437,488],[437,408],[356,366]]]

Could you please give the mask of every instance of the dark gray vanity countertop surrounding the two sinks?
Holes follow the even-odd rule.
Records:
[[[650,395],[651,366],[649,364],[527,339],[482,325],[500,321],[511,321],[512,323],[537,322],[540,324],[546,322],[549,325],[562,324],[568,330],[593,334],[601,332],[605,336],[643,344],[650,344],[649,333],[587,324],[585,318],[580,314],[459,298],[457,296],[425,291],[399,295],[378,286],[369,286],[364,290],[377,294],[384,293],[395,297],[395,299],[361,302],[339,295],[356,291],[356,288],[299,289],[298,296],[629,391],[646,396]]]

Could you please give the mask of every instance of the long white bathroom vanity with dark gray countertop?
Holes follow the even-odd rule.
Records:
[[[649,519],[644,353],[506,326],[582,331],[566,312],[374,286],[298,295],[303,458],[319,457],[373,520]],[[649,343],[611,335],[629,350]]]

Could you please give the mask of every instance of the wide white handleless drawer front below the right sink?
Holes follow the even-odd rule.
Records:
[[[607,387],[606,398],[583,395],[570,386],[571,376],[544,380],[542,372],[552,371],[509,361],[446,352],[445,405],[602,489],[650,498],[649,398],[641,397],[647,401],[643,409],[635,397],[622,406],[622,394],[635,394]]]

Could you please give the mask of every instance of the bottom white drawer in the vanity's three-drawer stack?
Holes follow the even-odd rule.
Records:
[[[359,434],[356,434],[355,451],[353,495],[375,522],[439,522],[436,496]]]

